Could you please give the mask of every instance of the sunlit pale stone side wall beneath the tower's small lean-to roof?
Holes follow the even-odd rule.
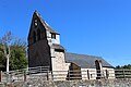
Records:
[[[57,52],[57,51],[53,51],[53,52],[55,52],[53,53],[55,58],[51,58],[53,78],[56,78],[59,75],[59,77],[62,77],[62,78],[58,77],[56,80],[66,80],[70,64],[66,63],[64,61],[64,52]]]

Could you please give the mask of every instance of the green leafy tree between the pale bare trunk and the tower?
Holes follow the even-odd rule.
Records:
[[[27,59],[26,59],[26,50],[21,46],[12,46],[11,47],[11,60],[10,60],[10,69],[11,70],[20,70],[26,69]]]

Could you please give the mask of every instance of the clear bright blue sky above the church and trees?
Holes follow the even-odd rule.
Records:
[[[130,0],[0,0],[0,37],[11,30],[26,39],[35,10],[61,34],[67,51],[131,64]]]

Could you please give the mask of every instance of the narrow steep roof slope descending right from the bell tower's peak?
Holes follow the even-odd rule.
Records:
[[[37,11],[35,11],[34,14],[38,16],[38,18],[40,20],[40,22],[43,23],[43,25],[44,25],[45,27],[47,27],[47,30],[49,30],[50,33],[53,33],[53,34],[58,34],[58,35],[59,35],[59,33],[57,33],[55,29],[52,29],[52,28],[41,18],[40,14],[39,14]]]

